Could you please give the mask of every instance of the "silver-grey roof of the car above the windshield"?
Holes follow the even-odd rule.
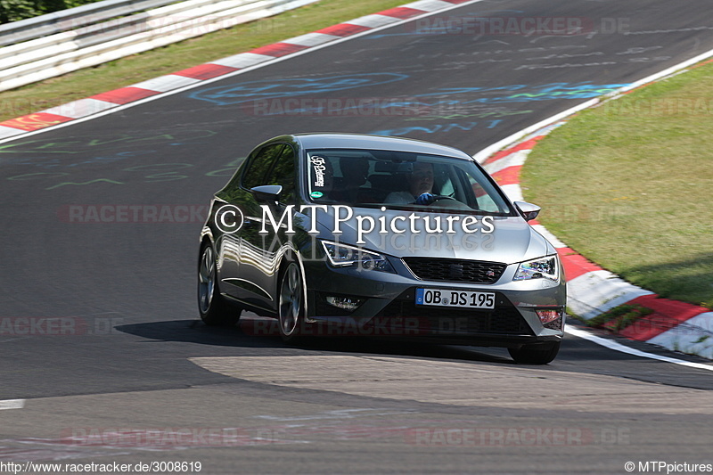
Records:
[[[403,137],[366,134],[295,134],[291,135],[304,149],[373,149],[394,152],[428,153],[457,159],[472,157],[453,147]]]

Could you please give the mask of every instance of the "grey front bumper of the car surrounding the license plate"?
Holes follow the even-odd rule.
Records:
[[[564,330],[566,286],[563,279],[512,281],[517,264],[493,284],[449,283],[416,278],[402,261],[392,260],[397,274],[335,268],[324,261],[304,263],[307,323],[321,336],[417,338],[477,346],[517,348],[556,342]],[[562,275],[560,273],[560,275]],[[416,305],[417,289],[495,293],[494,309]],[[356,309],[335,307],[327,298],[358,302]],[[560,317],[543,323],[537,310]]]

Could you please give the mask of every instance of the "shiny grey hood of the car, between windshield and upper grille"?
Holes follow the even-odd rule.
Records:
[[[453,213],[452,210],[428,212],[353,208],[353,216],[339,224],[341,233],[334,233],[337,210],[339,209],[329,207],[326,212],[317,211],[319,238],[356,245],[397,258],[409,256],[464,258],[513,264],[555,252],[552,244],[533,230],[522,217],[488,217],[488,219],[492,218],[492,226],[490,226],[481,223],[483,216],[475,216],[478,224],[471,224],[468,229],[477,231],[467,233],[463,230],[462,222],[463,218],[471,215]],[[414,219],[416,233],[410,231],[409,215],[412,214],[417,217]],[[347,209],[340,209],[340,217],[346,215]],[[362,220],[361,226],[364,230],[369,228],[370,220],[373,220],[375,224],[373,231],[360,234],[358,217]],[[428,223],[425,217],[429,217]],[[453,222],[453,233],[447,233],[447,217],[459,217],[459,220]],[[438,218],[441,232],[429,232],[437,227]],[[380,232],[381,222],[385,224],[386,233]],[[392,222],[396,223],[397,229],[406,229],[406,232],[394,233],[389,226]],[[491,233],[483,232],[491,229]]]

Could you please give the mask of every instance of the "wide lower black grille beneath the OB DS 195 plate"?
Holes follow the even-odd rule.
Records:
[[[520,312],[501,294],[496,293],[496,307],[492,310],[447,308],[416,305],[414,291],[405,292],[384,307],[378,318],[381,322],[401,319],[418,334],[508,334],[534,335]]]

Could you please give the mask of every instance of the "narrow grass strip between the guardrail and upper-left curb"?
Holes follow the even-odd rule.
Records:
[[[271,45],[400,4],[404,4],[404,0],[321,0],[274,17],[4,91],[0,93],[0,122]]]

